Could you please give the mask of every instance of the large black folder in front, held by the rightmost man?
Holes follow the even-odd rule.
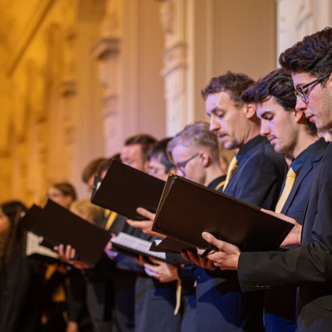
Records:
[[[207,231],[242,251],[279,248],[293,224],[260,211],[259,207],[170,174],[152,230],[207,249]]]

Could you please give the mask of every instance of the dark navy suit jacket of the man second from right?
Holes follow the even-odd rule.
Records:
[[[316,141],[314,149],[297,175],[281,213],[294,218],[301,225],[311,185],[328,144],[324,139]],[[296,286],[267,290],[264,298],[264,322],[266,332],[295,331]]]

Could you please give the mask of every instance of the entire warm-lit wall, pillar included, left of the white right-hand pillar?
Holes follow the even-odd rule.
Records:
[[[128,135],[207,120],[212,76],[275,68],[282,1],[0,1],[0,201],[62,180],[85,196],[83,166]]]

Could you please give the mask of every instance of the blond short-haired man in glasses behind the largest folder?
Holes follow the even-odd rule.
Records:
[[[167,150],[181,176],[215,190],[223,186],[225,172],[222,171],[220,165],[218,140],[209,131],[207,123],[197,122],[193,125],[187,125],[170,141]],[[172,254],[171,257],[172,261],[177,260],[179,263],[183,261],[181,256],[175,258],[175,254]],[[197,267],[183,266],[181,268],[179,266],[177,269],[173,265],[167,265],[163,262],[156,260],[153,262],[154,266],[145,265],[148,269],[147,273],[152,272],[151,276],[161,282],[165,279],[181,281],[181,331],[196,331],[194,274]],[[166,328],[163,331],[166,331]]]

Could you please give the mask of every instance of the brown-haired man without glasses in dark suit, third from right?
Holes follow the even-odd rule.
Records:
[[[259,135],[255,105],[241,100],[253,83],[245,74],[228,72],[212,78],[202,94],[210,130],[227,149],[239,149],[228,167],[224,192],[259,207],[274,208],[287,166]],[[190,252],[188,256],[201,267],[214,268],[203,258]],[[263,297],[243,294],[236,273],[197,269],[196,281],[198,331],[263,331]]]

